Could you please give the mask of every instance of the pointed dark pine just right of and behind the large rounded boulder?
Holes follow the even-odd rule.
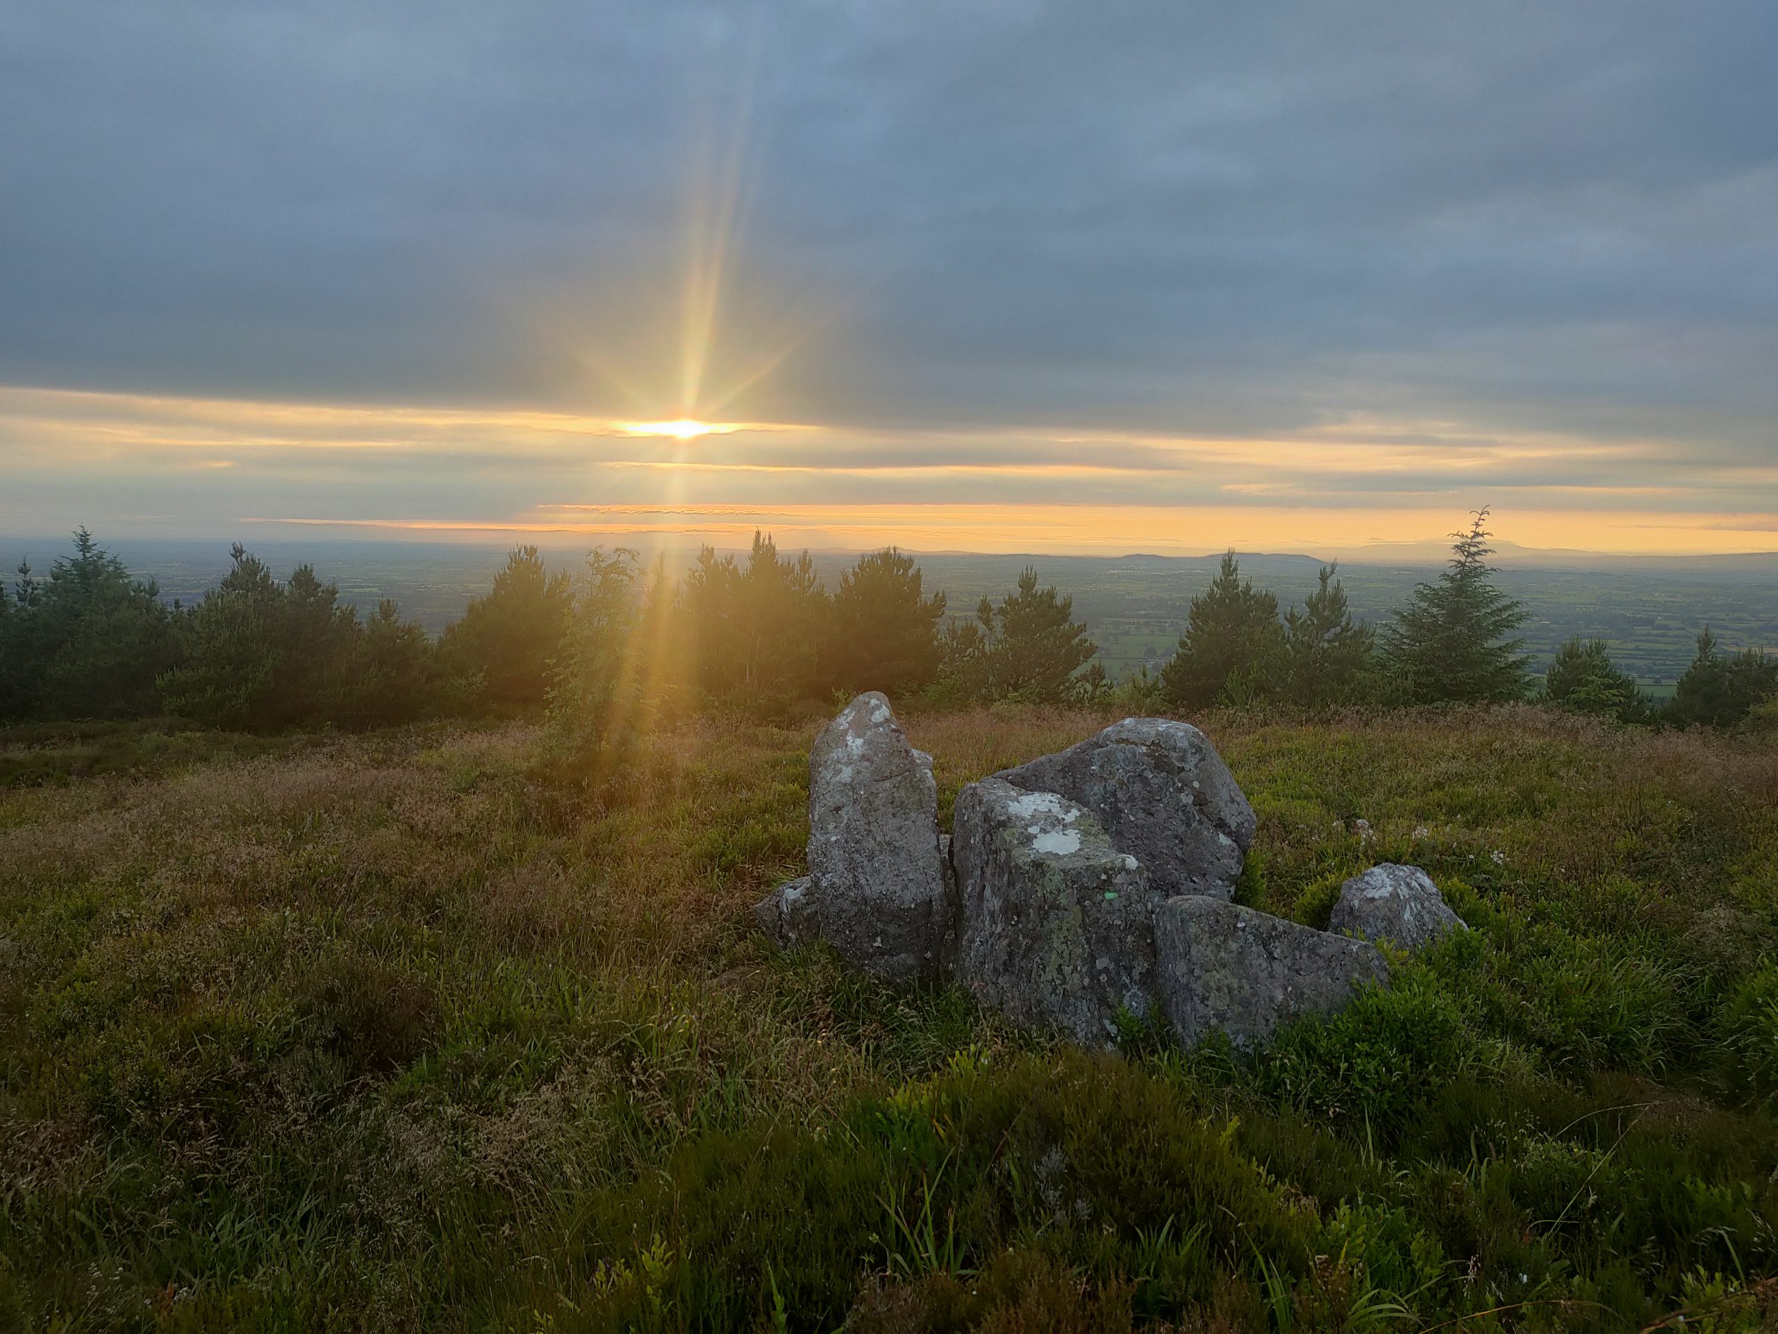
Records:
[[[1245,704],[1271,692],[1284,663],[1278,599],[1241,578],[1223,553],[1211,587],[1191,599],[1186,633],[1166,667],[1161,694],[1175,708]]]

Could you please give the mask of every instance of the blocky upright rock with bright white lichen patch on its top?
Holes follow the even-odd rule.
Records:
[[[1092,811],[985,779],[957,795],[957,978],[1019,1023],[1102,1046],[1145,1016],[1159,895]]]

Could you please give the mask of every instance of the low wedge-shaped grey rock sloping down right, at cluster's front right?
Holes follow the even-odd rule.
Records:
[[[1156,991],[1181,1041],[1225,1032],[1266,1041],[1305,1014],[1326,1014],[1362,982],[1387,982],[1374,944],[1312,930],[1214,898],[1168,898],[1154,914]]]

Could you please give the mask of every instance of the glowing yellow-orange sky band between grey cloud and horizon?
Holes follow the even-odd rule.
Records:
[[[1527,548],[1778,550],[1778,464],[1757,455],[1408,418],[1266,439],[0,386],[0,530],[30,535],[140,521],[745,546],[759,526],[816,550],[1421,559],[1492,503],[1499,539]]]

